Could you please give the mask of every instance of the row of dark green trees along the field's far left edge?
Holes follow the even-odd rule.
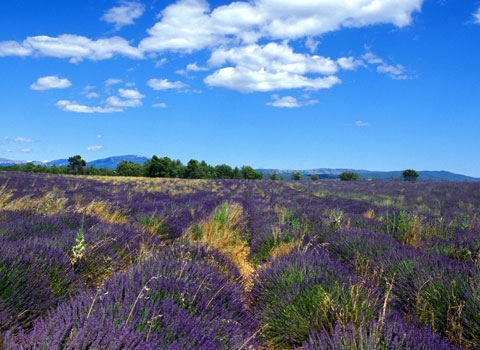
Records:
[[[116,169],[87,166],[80,155],[68,158],[66,166],[48,166],[44,164],[14,164],[0,167],[5,171],[22,171],[30,173],[97,175],[97,176],[134,176],[134,177],[166,177],[183,179],[262,179],[263,175],[251,166],[241,168],[227,164],[212,166],[204,160],[191,159],[187,165],[180,160],[169,157],[160,158],[154,155],[144,164],[122,160]]]

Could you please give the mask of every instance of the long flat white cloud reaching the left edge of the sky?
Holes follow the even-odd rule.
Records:
[[[114,36],[91,40],[84,36],[63,34],[58,37],[39,35],[27,37],[23,42],[0,42],[0,56],[46,56],[68,58],[72,63],[84,59],[105,60],[122,55],[143,58],[143,54],[130,46],[127,40]]]

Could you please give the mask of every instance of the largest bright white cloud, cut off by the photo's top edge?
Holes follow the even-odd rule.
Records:
[[[391,23],[403,27],[423,0],[256,0],[232,2],[213,11],[205,0],[179,0],[167,6],[139,47],[145,52],[192,52],[231,40],[311,38],[342,27]]]

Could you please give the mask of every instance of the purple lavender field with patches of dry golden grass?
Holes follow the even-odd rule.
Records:
[[[480,183],[0,172],[0,348],[478,349]]]

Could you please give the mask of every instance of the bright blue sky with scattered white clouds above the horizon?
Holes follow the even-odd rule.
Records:
[[[480,177],[480,1],[0,2],[0,158]]]

